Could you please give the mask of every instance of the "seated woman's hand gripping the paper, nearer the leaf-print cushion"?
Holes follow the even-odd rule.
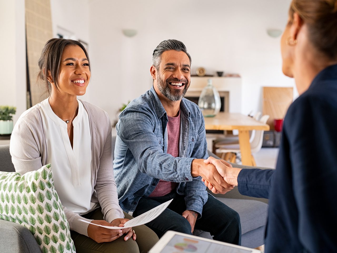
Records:
[[[111,226],[109,222],[104,220],[93,220],[91,223]],[[88,236],[97,243],[112,242],[122,236],[122,234],[123,232],[121,229],[108,229],[92,224],[89,224],[88,226]]]

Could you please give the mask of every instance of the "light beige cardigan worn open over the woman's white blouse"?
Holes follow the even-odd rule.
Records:
[[[117,188],[113,174],[111,123],[108,114],[97,106],[81,101],[89,116],[92,150],[91,201],[102,207],[104,220],[111,222],[124,218],[118,204]],[[37,104],[25,111],[15,124],[10,138],[10,154],[15,170],[20,174],[34,171],[47,164],[47,145],[42,127],[42,118]],[[53,165],[52,165],[53,168]],[[88,236],[84,219],[63,206],[71,230]]]

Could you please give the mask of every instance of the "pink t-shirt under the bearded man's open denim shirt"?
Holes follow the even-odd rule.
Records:
[[[167,153],[171,154],[173,157],[179,156],[179,136],[180,136],[180,110],[177,117],[167,116]],[[156,188],[149,197],[161,197],[164,196],[178,186],[176,182],[169,182],[160,179]]]

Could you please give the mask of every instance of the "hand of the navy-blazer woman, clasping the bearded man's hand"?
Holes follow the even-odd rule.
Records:
[[[213,164],[228,185],[231,185],[233,188],[238,185],[238,175],[241,169],[233,168],[233,166],[226,161],[218,160],[214,157],[209,157],[208,159],[204,160],[204,163]],[[205,185],[208,187],[208,189],[210,189],[213,193],[221,193],[206,178],[203,178],[202,180],[205,182]]]

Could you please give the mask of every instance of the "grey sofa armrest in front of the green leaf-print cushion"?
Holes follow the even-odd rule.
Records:
[[[1,252],[6,253],[41,253],[32,233],[24,226],[0,220]]]

